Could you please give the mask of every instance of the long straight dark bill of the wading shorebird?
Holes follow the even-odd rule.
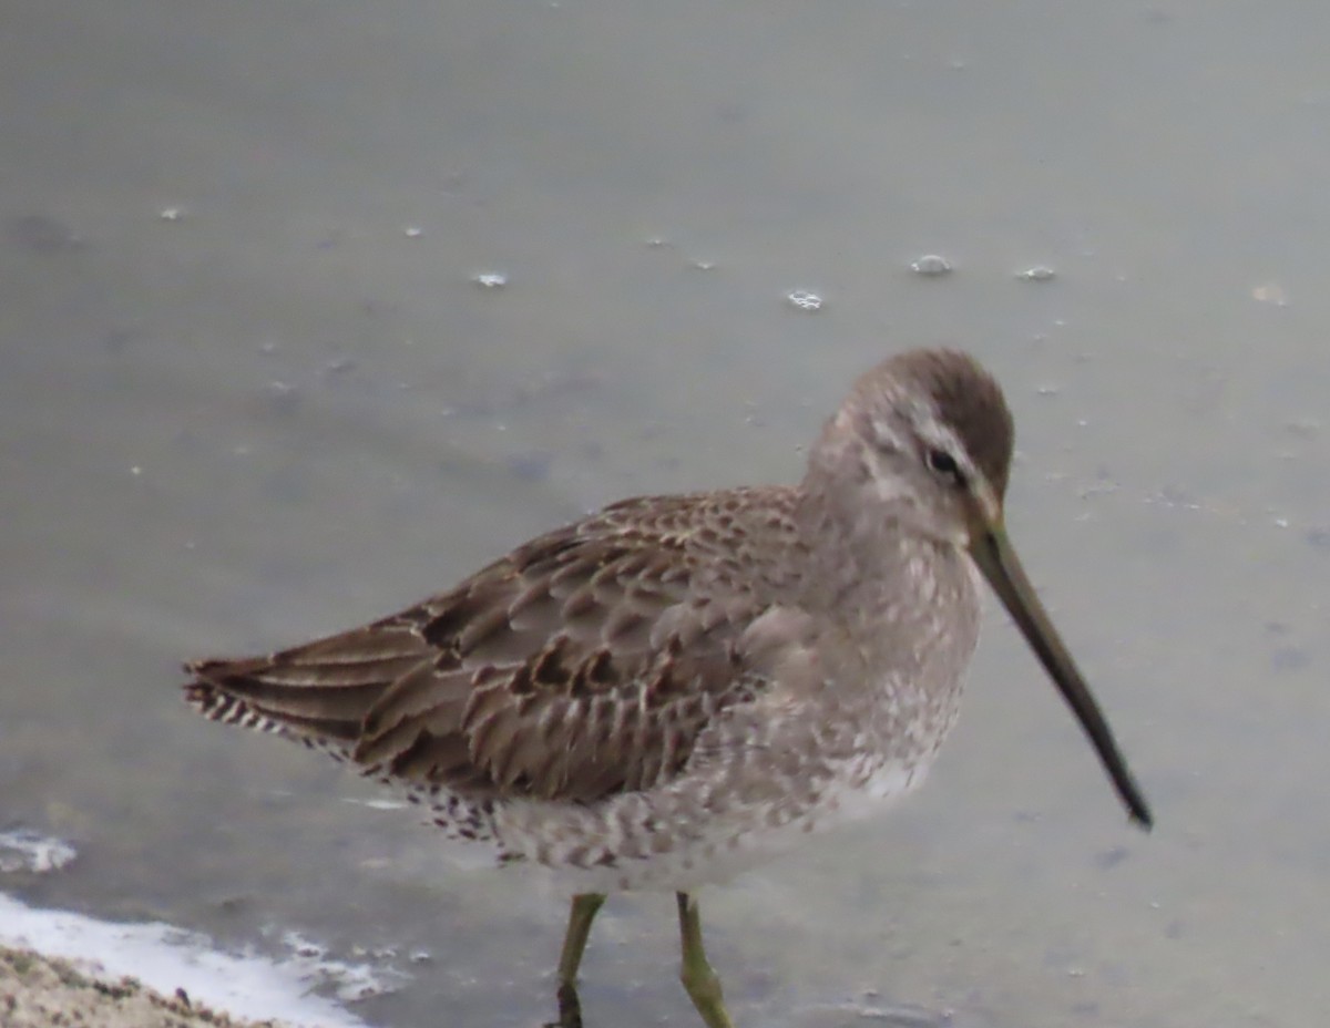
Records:
[[[976,532],[970,545],[970,553],[1011,613],[1012,620],[1020,626],[1025,641],[1039,654],[1039,662],[1044,665],[1044,670],[1057,685],[1081,727],[1085,729],[1085,734],[1095,745],[1095,750],[1104,763],[1104,770],[1113,779],[1113,786],[1132,819],[1142,829],[1149,829],[1152,823],[1149,805],[1132,778],[1127,761],[1113,739],[1113,731],[1108,727],[1104,714],[1100,713],[1089,686],[1081,678],[1076,662],[1059,638],[1053,622],[1049,621],[1048,613],[1035,594],[1035,588],[1029,584],[1029,578],[1025,577],[1025,572],[1016,559],[1016,551],[1007,539],[1007,531],[1001,524],[986,525]]]

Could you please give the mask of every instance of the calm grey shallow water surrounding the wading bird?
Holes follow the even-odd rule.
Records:
[[[371,1024],[539,1023],[561,900],[193,717],[178,661],[622,495],[791,479],[854,374],[940,340],[1007,386],[1012,533],[1158,827],[994,610],[920,795],[704,896],[735,1016],[1319,1023],[1322,5],[4,20],[0,829],[78,858],[0,888],[428,954]],[[668,899],[612,900],[592,947],[589,1024],[690,1023]]]

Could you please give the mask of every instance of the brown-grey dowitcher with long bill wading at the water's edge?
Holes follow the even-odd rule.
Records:
[[[672,890],[681,977],[729,1028],[694,891],[923,779],[982,573],[1150,813],[1003,523],[1012,419],[970,356],[864,374],[798,485],[624,500],[399,614],[190,664],[189,701],[404,785],[448,835],[560,871],[563,1025],[606,892]]]

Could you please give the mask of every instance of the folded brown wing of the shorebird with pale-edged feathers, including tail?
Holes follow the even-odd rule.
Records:
[[[698,532],[688,509],[714,497],[616,504],[392,617],[188,665],[188,698],[368,773],[477,797],[649,787],[765,688],[769,654],[754,660],[745,630],[770,602],[717,563],[733,521],[701,519]]]

